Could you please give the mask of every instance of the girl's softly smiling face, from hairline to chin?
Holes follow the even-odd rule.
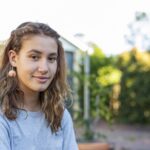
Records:
[[[14,56],[20,88],[42,92],[48,88],[57,70],[58,46],[54,38],[32,36],[25,39]]]

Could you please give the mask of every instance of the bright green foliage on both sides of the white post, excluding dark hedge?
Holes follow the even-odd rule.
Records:
[[[78,95],[79,107],[78,119],[83,119],[84,83],[88,82],[90,91],[90,119],[103,118],[112,121],[113,110],[111,108],[111,97],[113,85],[120,82],[121,72],[116,68],[117,57],[106,57],[102,50],[96,45],[91,44],[94,52],[90,55],[90,76],[84,74],[84,53],[82,53],[82,63],[80,72],[73,75],[79,81]]]

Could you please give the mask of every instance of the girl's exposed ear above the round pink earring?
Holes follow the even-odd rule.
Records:
[[[17,53],[14,50],[8,52],[9,62],[13,67],[16,67]]]

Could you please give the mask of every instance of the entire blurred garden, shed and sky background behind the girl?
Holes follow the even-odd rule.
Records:
[[[149,0],[5,0],[0,55],[25,21],[60,35],[73,91],[69,109],[78,143],[115,150],[150,149]]]

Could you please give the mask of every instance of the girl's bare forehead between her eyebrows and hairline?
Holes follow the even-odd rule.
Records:
[[[27,36],[22,41],[22,52],[38,50],[43,53],[57,53],[56,39],[45,35]]]

